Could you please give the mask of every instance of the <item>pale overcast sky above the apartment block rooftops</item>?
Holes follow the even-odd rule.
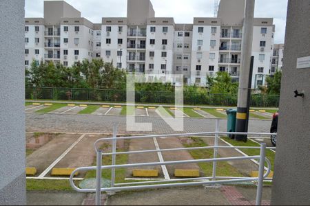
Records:
[[[102,17],[125,17],[127,0],[65,0],[93,23]],[[151,0],[156,17],[174,17],[176,23],[193,23],[194,17],[213,17],[214,0]],[[43,0],[25,0],[25,17],[43,17]],[[284,43],[287,0],[256,0],[255,17],[273,18],[275,43]]]

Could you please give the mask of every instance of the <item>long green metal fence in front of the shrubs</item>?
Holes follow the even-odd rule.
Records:
[[[126,102],[125,90],[36,88],[26,87],[28,100],[72,100],[87,102]],[[279,95],[251,95],[253,107],[278,107]],[[174,104],[174,92],[136,91],[136,103]],[[206,92],[184,92],[184,104],[209,106],[237,106],[238,95]]]

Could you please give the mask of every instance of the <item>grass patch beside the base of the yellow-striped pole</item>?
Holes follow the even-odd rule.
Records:
[[[246,143],[243,141],[234,141],[234,139],[229,139],[228,137],[222,137],[225,141],[229,142],[233,146],[260,146],[259,144],[248,140]],[[245,154],[249,156],[254,155],[260,155],[260,149],[240,149],[242,152],[245,152]],[[272,152],[271,150],[266,150],[266,157],[271,162],[271,170],[273,171],[273,164],[274,164],[274,158],[276,157],[276,153]],[[265,163],[267,166],[267,163]]]

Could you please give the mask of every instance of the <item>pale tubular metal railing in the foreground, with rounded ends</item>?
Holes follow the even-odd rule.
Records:
[[[112,191],[124,191],[124,190],[141,190],[141,189],[156,189],[163,187],[184,187],[184,186],[194,186],[194,185],[214,185],[223,183],[240,183],[257,181],[258,188],[256,193],[256,205],[261,205],[262,200],[262,184],[264,179],[271,172],[271,163],[269,159],[265,156],[266,144],[260,144],[260,147],[255,146],[218,146],[218,141],[220,135],[275,135],[270,133],[226,133],[219,131],[220,119],[216,119],[216,131],[211,133],[186,133],[186,134],[169,134],[169,135],[146,135],[146,136],[134,136],[134,137],[116,137],[117,126],[114,125],[113,137],[98,139],[94,143],[94,150],[96,150],[96,166],[78,168],[72,172],[70,176],[70,185],[77,192],[96,192],[96,205],[101,205],[101,192],[112,192]],[[116,144],[118,140],[129,140],[129,139],[155,139],[156,137],[197,137],[201,135],[214,135],[214,146],[196,147],[196,148],[169,148],[169,149],[156,149],[156,150],[136,150],[128,152],[116,152]],[[103,152],[103,150],[98,149],[99,142],[102,141],[112,141],[112,152]],[[218,158],[218,149],[260,149],[260,155],[246,156],[246,157],[225,157]],[[130,154],[145,154],[152,152],[175,152],[180,150],[201,150],[201,149],[214,149],[213,159],[194,159],[194,160],[181,160],[181,161],[161,161],[161,162],[151,162],[151,163],[128,163],[123,165],[116,165],[116,155],[130,155]],[[102,165],[103,156],[112,156],[112,165]],[[232,176],[217,176],[216,169],[217,163],[221,161],[240,161],[240,160],[254,160],[258,159],[258,177],[232,177]],[[265,162],[267,163],[267,168],[265,168]],[[159,181],[143,181],[143,182],[131,182],[131,183],[115,183],[115,169],[117,168],[134,168],[134,167],[146,167],[146,166],[156,166],[156,165],[178,165],[187,163],[213,163],[212,176],[202,177],[202,178],[189,178],[189,179],[165,179]],[[111,187],[101,187],[102,181],[102,170],[112,170],[111,173]],[[76,172],[87,172],[90,170],[96,170],[96,189],[81,189],[76,187],[73,182],[73,177]],[[264,174],[264,170],[267,172]],[[174,183],[178,182],[178,183]],[[162,183],[162,184],[158,184]]]

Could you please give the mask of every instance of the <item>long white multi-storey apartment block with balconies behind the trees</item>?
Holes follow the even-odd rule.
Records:
[[[218,71],[238,81],[245,0],[221,0],[217,18],[194,18],[192,24],[155,17],[150,0],[127,0],[126,17],[101,23],[81,18],[65,1],[45,1],[44,9],[43,19],[25,19],[25,65],[32,59],[71,66],[103,58],[129,72],[183,74],[186,84],[198,87]],[[254,19],[252,88],[271,73],[274,32],[273,19]]]

